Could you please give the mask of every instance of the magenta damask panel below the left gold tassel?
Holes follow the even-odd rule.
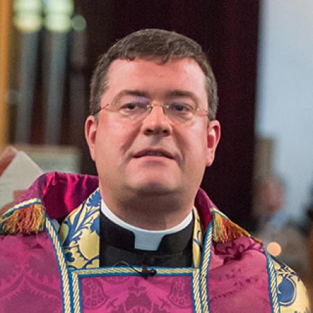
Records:
[[[62,312],[61,280],[47,233],[0,236],[0,264],[0,312]]]

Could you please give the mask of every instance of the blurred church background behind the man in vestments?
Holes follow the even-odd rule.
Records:
[[[223,136],[202,188],[310,277],[311,0],[1,0],[0,154],[14,145],[43,171],[95,174],[83,136],[95,62],[145,28],[193,38],[216,74]]]

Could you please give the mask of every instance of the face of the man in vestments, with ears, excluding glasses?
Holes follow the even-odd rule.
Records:
[[[99,111],[97,120],[94,116],[86,120],[102,196],[195,195],[205,167],[214,161],[220,125],[214,120],[208,126],[205,115],[186,122],[170,120],[160,105],[192,101],[207,109],[205,77],[199,65],[189,58],[163,65],[140,58],[113,61],[101,106],[134,94],[157,104],[145,118],[131,120],[106,108]]]

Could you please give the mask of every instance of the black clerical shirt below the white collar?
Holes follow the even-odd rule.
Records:
[[[163,236],[158,250],[134,248],[135,235],[100,213],[100,266],[190,267],[193,220],[183,230]]]

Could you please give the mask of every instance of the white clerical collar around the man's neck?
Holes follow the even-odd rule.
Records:
[[[179,223],[175,227],[172,227],[168,230],[144,230],[142,228],[130,225],[124,220],[118,218],[118,216],[116,216],[109,209],[109,207],[106,206],[104,200],[101,201],[101,211],[113,223],[134,233],[134,248],[149,251],[155,251],[159,248],[159,244],[161,243],[163,236],[179,232],[179,230],[183,230],[187,225],[189,225],[189,223],[191,223],[191,220],[193,219],[193,213],[191,211],[190,214],[188,214],[188,216],[182,221],[182,223]]]

